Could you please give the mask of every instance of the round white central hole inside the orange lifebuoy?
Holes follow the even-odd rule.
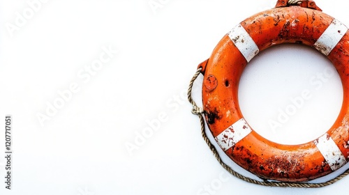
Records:
[[[253,130],[270,141],[295,145],[313,141],[332,127],[341,110],[343,86],[326,56],[308,46],[282,44],[248,63],[238,95]]]

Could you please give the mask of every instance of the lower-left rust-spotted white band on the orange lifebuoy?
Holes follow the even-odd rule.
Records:
[[[237,142],[244,139],[244,137],[251,132],[251,127],[246,123],[246,120],[242,118],[221,132],[215,139],[222,150],[226,151],[232,148],[232,146],[235,146]]]

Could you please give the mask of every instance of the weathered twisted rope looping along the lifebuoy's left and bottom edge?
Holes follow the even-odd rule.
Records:
[[[346,172],[342,173],[340,176],[329,180],[327,182],[322,182],[322,183],[297,183],[297,182],[269,182],[269,181],[258,181],[258,180],[254,180],[245,176],[242,176],[240,173],[237,173],[236,171],[234,171],[232,168],[230,168],[230,166],[228,166],[227,164],[225,164],[223,162],[223,160],[221,159],[221,157],[218,154],[218,151],[216,150],[216,148],[214,147],[214,145],[211,143],[211,141],[209,141],[209,138],[207,137],[207,134],[205,132],[205,120],[204,120],[204,116],[202,116],[202,114],[205,114],[205,110],[198,107],[198,105],[195,103],[195,101],[193,100],[192,93],[191,91],[193,90],[193,84],[194,81],[198,78],[198,76],[200,75],[202,68],[199,68],[196,72],[195,75],[193,76],[193,78],[191,79],[191,82],[189,84],[188,87],[188,101],[193,105],[193,109],[192,109],[192,113],[195,115],[199,116],[200,119],[200,123],[201,123],[201,134],[202,134],[202,138],[205,140],[205,142],[207,143],[207,146],[209,146],[209,149],[211,150],[211,152],[214,154],[214,157],[216,157],[216,159],[218,160],[219,164],[221,164],[221,166],[223,166],[223,168],[225,170],[227,170],[229,173],[232,174],[232,176],[235,176],[236,178],[239,178],[241,180],[244,180],[246,182],[250,182],[256,185],[263,185],[263,186],[268,186],[268,187],[307,187],[307,188],[316,188],[316,187],[325,187],[328,185],[332,185],[335,182],[338,182],[339,180],[341,180],[342,178],[346,177],[349,175],[349,169],[346,170]]]

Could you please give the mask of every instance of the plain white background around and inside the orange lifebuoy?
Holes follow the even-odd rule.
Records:
[[[229,176],[202,140],[186,101],[198,63],[209,58],[225,33],[276,1],[49,0],[32,8],[33,1],[0,1],[2,123],[6,114],[13,116],[13,189],[5,189],[2,128],[0,194],[334,194],[346,189],[348,177],[321,189],[293,189]],[[316,3],[349,25],[346,1]],[[117,54],[87,73],[103,48]],[[341,107],[341,81],[331,68],[324,56],[300,45],[262,52],[242,77],[239,99],[246,120],[281,143],[319,137]],[[331,77],[319,80],[318,74],[331,70]],[[199,104],[201,82],[199,77],[193,92]],[[71,85],[75,90],[62,103],[59,93],[68,94]],[[272,130],[269,122],[278,121],[304,90],[311,98]],[[55,111],[48,108],[54,103]],[[147,137],[140,138],[144,132]]]

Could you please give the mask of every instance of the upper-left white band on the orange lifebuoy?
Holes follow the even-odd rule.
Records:
[[[241,26],[241,24],[235,26],[228,33],[228,36],[245,57],[247,62],[251,61],[251,59],[253,59],[253,57],[260,52],[260,49],[258,49],[255,41],[247,33],[244,27]]]

